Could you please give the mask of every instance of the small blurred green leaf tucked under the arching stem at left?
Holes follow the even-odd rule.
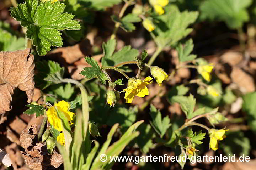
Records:
[[[60,85],[56,89],[53,89],[53,91],[62,99],[68,100],[74,93],[74,89],[75,88],[71,86],[71,83],[67,83],[64,88],[62,85]]]

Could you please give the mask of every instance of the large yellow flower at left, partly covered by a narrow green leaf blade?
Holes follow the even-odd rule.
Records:
[[[57,104],[54,104],[53,107],[50,107],[50,109],[48,111],[46,111],[46,115],[48,117],[49,123],[52,124],[55,129],[57,129],[58,131],[61,132],[63,130],[62,122],[61,122],[60,118],[58,117],[58,113],[56,112],[54,107],[57,107],[58,110],[62,111],[65,114],[68,121],[73,120],[74,113],[68,111],[69,103],[65,102],[64,100],[60,101]]]

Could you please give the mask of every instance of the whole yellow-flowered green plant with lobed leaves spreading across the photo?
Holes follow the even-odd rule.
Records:
[[[201,10],[207,14],[214,1],[207,0]],[[189,89],[191,84],[196,85],[197,93],[208,98],[220,99],[223,93],[212,80],[214,64],[191,54],[193,40],[186,37],[193,30],[190,25],[196,21],[197,11],[181,12],[169,0],[149,0],[145,4],[135,0],[25,0],[11,9],[11,16],[21,23],[25,39],[17,39],[10,33],[5,35],[15,36],[18,42],[22,41],[14,50],[26,46],[35,49],[39,56],[44,56],[52,46],[61,47],[63,38],[68,39],[66,34],[76,35],[78,40],[84,38],[85,28],[90,24],[88,18],[93,18],[95,11],[102,12],[120,3],[123,6],[118,15],[110,16],[113,33],[102,44],[102,58],[84,57],[89,67],[82,69],[80,74],[84,79],[81,81],[66,78],[65,68],[58,62],[37,57],[34,81],[41,90],[43,104],[28,104],[26,106],[30,108],[24,113],[44,117],[39,138],[46,142],[49,154],[57,146],[65,170],[108,170],[114,165],[114,162],[110,162],[110,156],[120,155],[128,145],[136,145],[144,154],[159,146],[176,147],[180,149],[177,156],[187,154],[191,157],[200,153],[200,145],[207,142],[204,138],[209,138],[207,145],[216,151],[228,129],[215,129],[215,124],[227,119],[218,112],[218,108],[196,106],[196,98]],[[127,10],[128,7],[131,10]],[[219,14],[216,13],[216,16]],[[229,22],[226,18],[221,19]],[[246,21],[246,17],[241,19],[243,21]],[[241,22],[233,23],[231,27],[240,26]],[[131,45],[116,50],[118,31],[137,31],[139,24],[156,44],[153,55],[148,55],[145,49],[134,49]],[[1,50],[12,49],[10,44],[13,42],[7,40]],[[160,55],[166,57],[163,52],[169,49],[175,49],[178,57],[172,72],[154,64]],[[132,71],[135,67],[138,71],[134,74]],[[186,84],[172,86],[162,96],[171,105],[179,103],[185,119],[164,116],[150,104],[155,96],[140,107],[129,105],[138,97],[148,96],[152,84],[157,83],[160,88],[168,86],[176,72],[184,68],[197,70],[197,77]],[[150,115],[149,123],[137,117],[139,112]],[[198,123],[199,118],[208,119],[211,126]],[[101,137],[103,125],[112,128],[107,136]],[[192,126],[199,126],[201,130],[193,131]],[[113,136],[115,142],[111,143]],[[105,142],[98,142],[102,138]],[[101,154],[107,156],[105,162],[100,160]],[[183,168],[186,162],[179,163]]]

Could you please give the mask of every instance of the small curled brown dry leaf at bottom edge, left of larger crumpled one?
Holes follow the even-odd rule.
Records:
[[[9,158],[11,159],[14,170],[30,170],[26,167],[16,143],[12,143],[11,145],[7,146],[6,152],[9,154]]]

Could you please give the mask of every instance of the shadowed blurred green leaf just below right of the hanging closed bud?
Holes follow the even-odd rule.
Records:
[[[136,120],[136,114],[138,113],[138,107],[130,107],[127,109],[122,105],[113,107],[110,111],[110,117],[107,124],[112,126],[115,123],[119,123],[122,126],[122,130],[128,129]]]

